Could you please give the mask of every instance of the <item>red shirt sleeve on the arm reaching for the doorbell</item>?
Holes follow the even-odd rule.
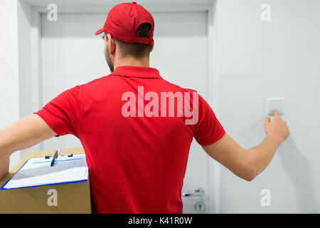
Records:
[[[215,117],[210,105],[198,95],[198,123],[194,138],[200,145],[210,145],[220,140],[225,134],[223,126]]]

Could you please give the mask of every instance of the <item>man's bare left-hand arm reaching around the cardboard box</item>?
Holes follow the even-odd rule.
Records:
[[[0,179],[9,171],[9,157],[57,135],[38,115],[31,114],[0,130]]]

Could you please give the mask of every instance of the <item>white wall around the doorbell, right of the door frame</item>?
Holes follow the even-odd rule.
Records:
[[[262,4],[271,21],[262,21]],[[291,135],[252,182],[222,168],[221,212],[320,212],[320,1],[218,0],[220,121],[242,147],[262,142],[265,100],[282,97]],[[262,189],[271,207],[262,207]]]

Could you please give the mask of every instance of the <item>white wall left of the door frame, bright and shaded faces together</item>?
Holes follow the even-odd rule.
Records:
[[[31,6],[24,1],[1,1],[0,26],[0,129],[16,120],[30,115],[40,106],[38,68],[32,62],[33,48],[31,35],[35,31]],[[35,69],[36,68],[36,69]],[[28,151],[39,150],[39,145],[14,152],[10,168]]]

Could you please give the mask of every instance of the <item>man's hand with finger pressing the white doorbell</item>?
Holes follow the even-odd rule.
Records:
[[[269,117],[265,119],[265,133],[272,138],[277,145],[280,145],[289,136],[289,128],[287,123],[282,120],[277,110],[273,111],[274,119],[271,121]]]

